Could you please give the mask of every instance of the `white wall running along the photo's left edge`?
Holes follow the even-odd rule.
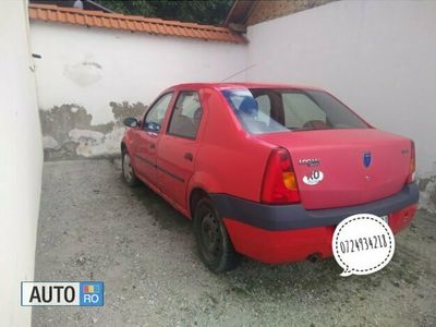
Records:
[[[43,144],[27,3],[5,0],[0,10],[0,326],[29,326],[21,307],[22,280],[33,280]]]

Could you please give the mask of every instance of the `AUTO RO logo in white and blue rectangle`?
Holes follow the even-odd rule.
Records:
[[[23,281],[21,304],[102,306],[102,281]]]

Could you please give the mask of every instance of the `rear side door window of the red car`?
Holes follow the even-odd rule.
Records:
[[[172,110],[168,134],[195,140],[202,113],[198,93],[182,90]]]

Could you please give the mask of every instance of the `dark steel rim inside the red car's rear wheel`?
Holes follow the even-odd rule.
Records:
[[[201,239],[203,252],[207,259],[216,259],[222,253],[221,232],[218,218],[210,211],[202,219]]]

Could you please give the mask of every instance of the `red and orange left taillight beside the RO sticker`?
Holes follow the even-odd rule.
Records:
[[[300,202],[300,192],[291,156],[284,148],[274,149],[268,158],[261,201],[266,204]]]

